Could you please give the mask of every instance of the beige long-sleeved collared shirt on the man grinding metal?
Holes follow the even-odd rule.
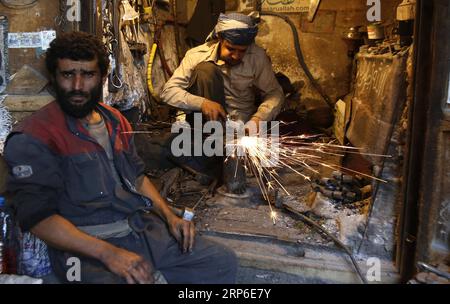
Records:
[[[200,111],[203,97],[187,91],[195,67],[203,62],[214,62],[220,67],[225,87],[227,113],[240,120],[257,117],[263,121],[273,120],[284,102],[283,90],[272,70],[266,52],[251,44],[242,62],[229,66],[219,60],[219,42],[208,42],[189,50],[161,93],[164,102],[185,110]],[[255,105],[255,88],[261,92],[262,103]]]

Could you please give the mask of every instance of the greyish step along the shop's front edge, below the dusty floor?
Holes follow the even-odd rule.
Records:
[[[337,248],[211,231],[202,235],[236,252],[240,267],[238,283],[362,283],[349,256]],[[355,257],[363,275],[369,274],[370,281],[372,277],[376,279],[373,272],[376,265],[369,258]],[[392,261],[378,259],[378,262],[379,280],[369,283],[400,282]]]

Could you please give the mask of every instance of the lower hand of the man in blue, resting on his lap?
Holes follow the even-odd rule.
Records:
[[[127,280],[128,284],[153,284],[153,267],[134,252],[108,246],[101,257],[103,264],[113,273]]]

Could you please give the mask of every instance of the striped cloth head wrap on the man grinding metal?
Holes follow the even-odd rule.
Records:
[[[255,41],[258,34],[258,25],[250,16],[230,13],[220,14],[217,25],[206,38],[206,41],[224,38],[231,44],[250,45]]]

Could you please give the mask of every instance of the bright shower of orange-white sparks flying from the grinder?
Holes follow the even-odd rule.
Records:
[[[348,153],[359,153],[375,157],[390,156],[363,153],[358,148],[336,145],[332,142],[312,142],[312,139],[318,140],[321,138],[318,135],[281,136],[278,142],[274,143],[270,137],[243,136],[235,139],[232,143],[227,142],[227,148],[231,149],[228,151],[232,151],[229,157],[242,157],[246,170],[255,176],[264,200],[269,203],[270,217],[274,224],[277,214],[271,206],[270,193],[278,188],[290,195],[281,181],[278,173],[280,169],[288,169],[309,182],[312,181],[314,174],[319,174],[319,171],[313,168],[318,166],[333,170],[345,170],[385,182],[375,176],[328,163],[325,157],[344,156]],[[228,157],[225,161],[227,160]]]

